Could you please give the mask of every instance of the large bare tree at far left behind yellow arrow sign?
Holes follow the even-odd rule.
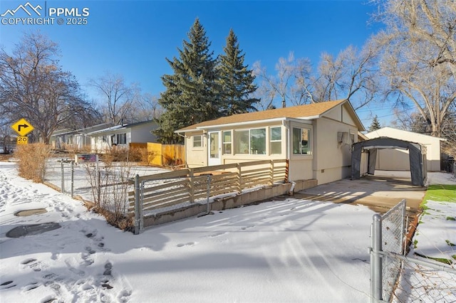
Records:
[[[58,65],[58,45],[39,32],[28,33],[11,55],[0,50],[0,112],[9,122],[24,117],[39,139],[51,134],[74,115],[84,115],[90,104],[76,79]]]

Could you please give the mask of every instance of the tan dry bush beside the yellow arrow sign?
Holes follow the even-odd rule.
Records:
[[[52,156],[51,146],[43,143],[18,145],[14,157],[19,159],[19,176],[43,183],[46,161]]]

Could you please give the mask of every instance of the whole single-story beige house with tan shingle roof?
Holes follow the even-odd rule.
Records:
[[[351,176],[351,144],[364,127],[348,100],[221,117],[177,130],[187,165],[289,159],[289,181]]]

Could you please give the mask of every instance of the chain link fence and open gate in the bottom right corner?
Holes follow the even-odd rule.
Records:
[[[425,257],[405,256],[405,200],[371,229],[371,302],[456,302],[456,268]],[[453,263],[454,264],[454,263]]]

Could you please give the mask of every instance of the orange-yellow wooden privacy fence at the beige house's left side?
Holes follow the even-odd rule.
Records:
[[[181,165],[185,163],[185,146],[180,144],[147,143],[147,152],[153,154],[149,158],[151,165]]]

